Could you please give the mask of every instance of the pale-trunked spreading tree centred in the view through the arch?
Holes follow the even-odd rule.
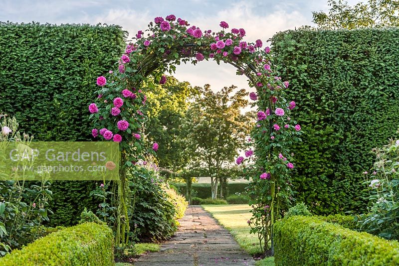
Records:
[[[211,178],[212,199],[217,195],[217,184],[223,167],[231,164],[238,150],[245,146],[251,130],[251,116],[241,114],[248,105],[244,89],[229,96],[235,86],[224,87],[214,93],[210,86],[198,88],[199,97],[187,115],[188,146],[192,166],[205,167]]]

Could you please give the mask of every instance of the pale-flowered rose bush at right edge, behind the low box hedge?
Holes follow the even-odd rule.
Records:
[[[360,215],[359,226],[362,231],[399,240],[399,139],[391,139],[373,151],[374,171],[367,175],[366,182],[371,206],[366,214]]]

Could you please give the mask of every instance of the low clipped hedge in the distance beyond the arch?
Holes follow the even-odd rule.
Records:
[[[186,183],[173,183],[172,185],[175,186],[182,195],[186,196]],[[235,193],[244,193],[247,186],[247,183],[227,183],[227,195],[224,195],[224,197],[234,195]],[[201,199],[210,198],[212,196],[210,183],[193,183],[192,191],[195,197]],[[217,196],[220,195],[219,192],[218,190]]]

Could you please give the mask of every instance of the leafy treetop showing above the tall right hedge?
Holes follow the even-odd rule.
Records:
[[[322,29],[399,26],[398,0],[368,0],[350,6],[347,1],[329,0],[330,11],[312,12],[313,22]]]

